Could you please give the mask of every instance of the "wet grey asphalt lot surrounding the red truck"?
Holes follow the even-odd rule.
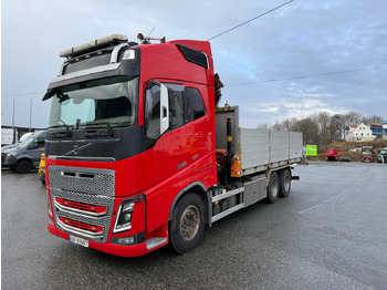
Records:
[[[297,165],[291,195],[207,228],[185,255],[119,258],[46,230],[36,172],[1,172],[2,289],[387,289],[387,165]]]

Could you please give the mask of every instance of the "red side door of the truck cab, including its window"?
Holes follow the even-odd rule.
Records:
[[[171,86],[174,90],[171,90]],[[143,174],[146,186],[166,180],[188,166],[190,136],[182,126],[182,85],[170,84],[167,87],[165,84],[157,82],[147,84],[145,92],[145,130],[148,149],[144,154]],[[168,104],[163,104],[164,94],[167,94]],[[165,112],[166,110],[168,112]],[[168,124],[163,124],[166,117]]]

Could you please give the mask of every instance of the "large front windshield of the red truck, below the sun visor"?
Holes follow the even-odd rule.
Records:
[[[54,91],[50,127],[132,126],[136,122],[138,77],[92,80]]]

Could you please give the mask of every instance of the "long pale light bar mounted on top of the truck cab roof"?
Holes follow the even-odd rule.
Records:
[[[62,51],[59,55],[61,58],[70,59],[70,58],[81,55],[81,54],[90,52],[90,51],[102,49],[104,46],[107,48],[107,46],[116,45],[116,44],[122,43],[122,42],[127,42],[127,40],[128,40],[128,38],[126,35],[112,34],[112,35],[108,35],[108,37],[105,37],[102,39],[97,39],[97,40],[87,42],[85,44]]]

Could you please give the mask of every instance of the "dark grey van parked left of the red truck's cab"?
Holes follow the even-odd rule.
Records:
[[[44,151],[46,131],[36,131],[14,147],[1,148],[1,166],[25,174],[38,168]]]

